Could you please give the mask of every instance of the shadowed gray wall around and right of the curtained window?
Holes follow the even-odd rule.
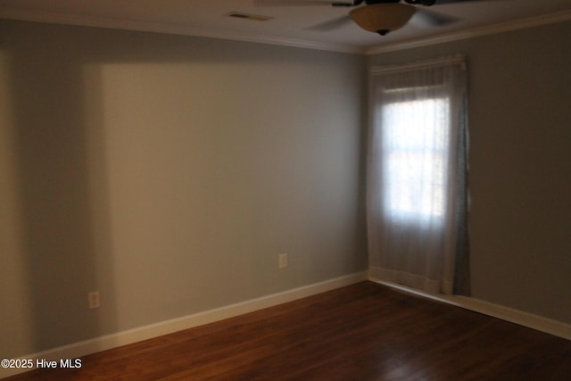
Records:
[[[377,54],[466,54],[473,296],[571,323],[571,22]]]

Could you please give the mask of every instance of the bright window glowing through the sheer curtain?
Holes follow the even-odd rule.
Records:
[[[383,106],[384,210],[392,219],[443,218],[449,108],[443,97]]]

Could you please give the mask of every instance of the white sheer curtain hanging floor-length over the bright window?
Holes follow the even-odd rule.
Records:
[[[371,275],[469,294],[465,63],[456,56],[374,68],[370,81]]]

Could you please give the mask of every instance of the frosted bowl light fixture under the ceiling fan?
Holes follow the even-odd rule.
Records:
[[[353,9],[349,16],[360,28],[385,35],[405,26],[416,11],[409,4],[371,4]]]

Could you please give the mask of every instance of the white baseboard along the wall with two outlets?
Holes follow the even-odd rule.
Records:
[[[238,302],[228,306],[220,307],[211,311],[194,313],[178,319],[161,321],[145,327],[137,327],[122,331],[112,335],[95,337],[79,343],[64,345],[44,352],[32,353],[21,356],[21,360],[32,360],[35,364],[37,359],[55,360],[60,363],[62,359],[77,359],[95,352],[102,352],[116,348],[121,345],[133,344],[143,340],[161,335],[168,335],[192,327],[202,326],[222,319],[232,318],[244,313],[262,310],[285,302],[292,302],[307,296],[325,293],[343,286],[350,286],[355,283],[367,280],[367,271],[351,274],[344,277],[336,277],[324,282],[315,283],[309,286],[302,286],[287,290],[277,294],[270,294],[260,298],[245,302]],[[4,369],[0,368],[0,378],[10,377],[29,371],[31,369]]]

